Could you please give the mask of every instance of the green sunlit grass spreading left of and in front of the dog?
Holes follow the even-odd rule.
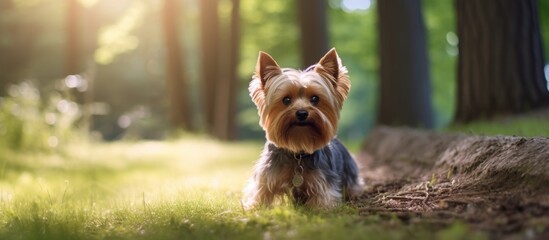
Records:
[[[261,143],[203,138],[0,149],[0,239],[409,239],[465,237],[395,219],[282,205],[245,212]],[[482,237],[482,236],[480,236]]]

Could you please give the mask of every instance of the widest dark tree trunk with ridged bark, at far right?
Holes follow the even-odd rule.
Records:
[[[549,103],[536,0],[456,0],[457,113],[467,122]]]

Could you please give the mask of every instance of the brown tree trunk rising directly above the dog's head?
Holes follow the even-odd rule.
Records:
[[[315,64],[328,52],[328,31],[325,0],[299,0],[297,2],[301,32],[302,66]]]

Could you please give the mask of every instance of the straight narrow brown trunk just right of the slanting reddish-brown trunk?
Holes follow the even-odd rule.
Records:
[[[201,0],[202,111],[205,130],[215,131],[216,83],[219,80],[219,19],[217,0]],[[225,77],[225,76],[223,76]]]

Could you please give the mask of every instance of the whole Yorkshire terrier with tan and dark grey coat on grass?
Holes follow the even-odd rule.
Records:
[[[362,192],[357,164],[335,138],[350,88],[334,48],[305,71],[280,68],[259,53],[249,91],[267,142],[244,190],[246,209],[285,195],[296,205],[327,209]]]

